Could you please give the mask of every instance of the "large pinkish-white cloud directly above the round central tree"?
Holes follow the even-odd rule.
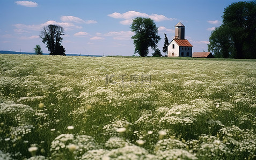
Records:
[[[174,20],[174,18],[167,18],[163,16],[162,14],[147,14],[147,13],[141,13],[141,12],[136,12],[136,11],[128,11],[125,13],[119,13],[119,12],[114,12],[112,14],[108,14],[107,16],[116,18],[116,19],[125,19],[120,21],[120,24],[122,25],[130,25],[131,22],[133,22],[133,18],[136,17],[144,17],[144,18],[151,18],[154,21],[165,21],[165,20]]]

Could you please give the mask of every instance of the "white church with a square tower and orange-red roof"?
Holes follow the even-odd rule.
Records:
[[[174,39],[169,43],[167,49],[168,57],[192,57],[193,45],[185,39],[185,26],[178,22],[175,26]]]

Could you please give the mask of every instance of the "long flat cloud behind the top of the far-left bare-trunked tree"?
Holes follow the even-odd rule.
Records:
[[[43,27],[48,26],[48,25],[58,25],[58,26],[62,26],[64,29],[82,28],[81,26],[76,26],[69,22],[56,22],[54,20],[49,20],[49,21],[45,22],[44,24],[40,24],[40,25],[16,24],[14,26],[18,29],[23,29],[24,31],[26,31],[26,30],[40,31]]]

